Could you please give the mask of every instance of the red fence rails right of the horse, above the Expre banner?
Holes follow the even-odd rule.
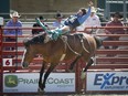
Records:
[[[100,47],[97,50],[95,55],[95,64],[90,67],[92,70],[120,70],[128,71],[128,26],[95,26],[86,29],[100,29],[103,33],[97,33],[100,38],[106,36],[118,36],[119,41],[104,41],[103,46],[119,46],[116,50]],[[105,34],[105,29],[125,29],[125,34]]]

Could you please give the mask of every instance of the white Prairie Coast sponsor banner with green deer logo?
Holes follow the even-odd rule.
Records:
[[[36,93],[39,73],[3,74],[4,93]],[[45,92],[75,92],[75,73],[51,73]]]

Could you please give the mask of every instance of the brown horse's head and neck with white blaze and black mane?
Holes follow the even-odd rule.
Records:
[[[29,64],[32,62],[34,55],[38,53],[36,44],[39,43],[43,44],[44,39],[45,39],[45,34],[40,34],[32,39],[26,39],[23,41],[23,44],[25,46],[21,62],[23,68],[26,68]]]

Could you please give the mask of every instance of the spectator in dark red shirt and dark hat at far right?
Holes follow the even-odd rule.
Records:
[[[122,15],[119,12],[114,13],[113,15],[113,20],[109,21],[106,26],[124,26],[124,23],[120,21],[120,19],[122,18]],[[106,34],[124,34],[125,30],[124,29],[106,29],[105,30]],[[118,41],[119,36],[108,36],[105,39],[105,41]],[[111,49],[117,49],[118,46],[113,46]],[[105,46],[105,49],[110,49],[109,46]]]

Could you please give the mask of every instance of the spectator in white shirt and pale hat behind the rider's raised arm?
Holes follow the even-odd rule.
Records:
[[[100,26],[100,20],[99,17],[96,14],[96,9],[94,7],[92,7],[92,13],[88,17],[88,19],[83,23],[83,25],[86,26]],[[97,30],[92,30],[92,29],[85,29],[85,32],[92,34],[92,33],[96,33]],[[95,34],[94,33],[94,34]]]

